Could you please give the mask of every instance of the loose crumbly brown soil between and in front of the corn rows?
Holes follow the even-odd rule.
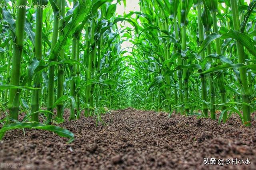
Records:
[[[69,110],[64,117],[68,120]],[[81,114],[82,115],[82,114]],[[124,109],[59,124],[75,141],[48,131],[25,129],[6,133],[0,141],[0,163],[20,169],[251,169],[256,170],[256,121],[242,127],[232,115],[218,125],[210,119],[154,111]],[[250,159],[249,165],[204,165],[204,158]],[[4,166],[2,166],[3,168]]]

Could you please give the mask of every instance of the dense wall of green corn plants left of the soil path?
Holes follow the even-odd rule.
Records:
[[[63,122],[65,106],[71,108],[70,120],[79,118],[82,109],[98,117],[98,110],[104,110],[98,108],[120,107],[102,102],[125,90],[118,82],[120,68],[114,67],[122,62],[122,30],[116,26],[122,20],[115,16],[121,2],[38,0],[33,6],[32,0],[18,0],[1,9],[1,69],[7,74],[1,74],[0,89],[10,113],[1,121],[1,135],[34,128],[72,139],[71,132],[44,124]],[[19,122],[22,112],[26,119]],[[44,124],[37,123],[40,116]]]

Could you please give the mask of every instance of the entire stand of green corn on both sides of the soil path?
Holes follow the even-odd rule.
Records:
[[[140,10],[117,14],[132,3]],[[128,107],[251,127],[256,0],[1,0],[0,139]],[[125,46],[124,44],[129,44]],[[68,109],[68,120],[64,119]]]

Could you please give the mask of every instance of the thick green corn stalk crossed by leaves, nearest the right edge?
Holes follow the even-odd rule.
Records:
[[[238,14],[238,4],[236,0],[230,0],[231,4],[231,11],[233,17],[233,24],[234,29],[238,30],[240,28],[240,20]],[[237,55],[238,55],[238,62],[245,64],[245,55],[244,55],[244,47],[242,43],[236,41],[236,48],[237,48]],[[246,75],[246,68],[239,68],[240,72],[240,79],[241,79],[241,94],[242,94],[242,102],[245,103],[242,105],[243,107],[243,118],[244,118],[244,125],[251,126],[251,115],[250,115],[250,107],[249,104],[249,88],[248,88],[248,80]]]

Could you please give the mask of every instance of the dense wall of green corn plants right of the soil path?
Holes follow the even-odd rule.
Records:
[[[132,38],[132,101],[250,126],[255,109],[256,1],[140,0]],[[208,113],[208,111],[210,113]],[[241,114],[240,111],[243,111]]]

